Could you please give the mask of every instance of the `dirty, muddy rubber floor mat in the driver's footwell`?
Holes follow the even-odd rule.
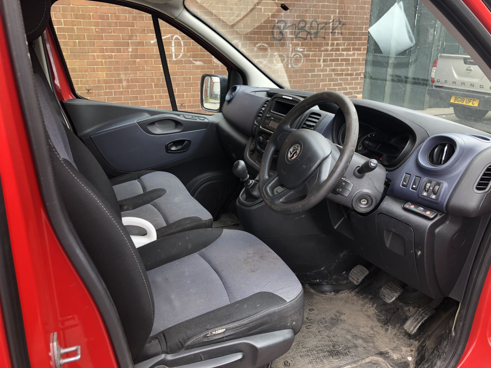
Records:
[[[379,291],[391,278],[381,272],[356,289],[322,294],[304,287],[305,314],[291,349],[272,368],[412,368],[418,333],[403,325],[424,301],[384,302]]]

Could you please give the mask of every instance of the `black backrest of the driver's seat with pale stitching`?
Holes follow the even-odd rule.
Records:
[[[109,179],[79,138],[71,131],[67,136],[55,111],[58,105],[53,100],[52,90],[42,70],[36,68],[37,59],[32,52],[31,59],[61,199],[83,250],[109,290],[131,353],[136,356],[150,336],[154,318],[153,295],[146,270],[121,222]]]

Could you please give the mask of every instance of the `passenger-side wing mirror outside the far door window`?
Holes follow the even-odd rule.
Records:
[[[219,112],[225,102],[228,90],[228,77],[219,74],[201,76],[200,100],[205,111]]]

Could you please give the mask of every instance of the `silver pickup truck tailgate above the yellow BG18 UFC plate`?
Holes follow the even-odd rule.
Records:
[[[491,94],[490,80],[469,55],[440,54],[434,85]]]

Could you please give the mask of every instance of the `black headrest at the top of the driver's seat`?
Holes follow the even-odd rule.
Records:
[[[51,0],[21,0],[27,42],[39,38],[50,21]]]

